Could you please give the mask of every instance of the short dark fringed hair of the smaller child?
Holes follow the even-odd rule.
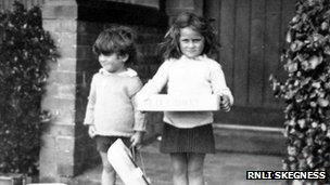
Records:
[[[135,64],[137,61],[137,48],[135,44],[136,32],[126,26],[112,26],[103,30],[94,44],[92,50],[97,55],[128,55],[125,65]]]

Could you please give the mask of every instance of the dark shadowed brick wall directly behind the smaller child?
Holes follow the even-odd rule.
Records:
[[[88,137],[87,128],[82,125],[91,77],[100,68],[91,45],[103,28],[102,23],[77,22],[77,93],[76,93],[76,155],[79,171],[99,163],[94,142]]]

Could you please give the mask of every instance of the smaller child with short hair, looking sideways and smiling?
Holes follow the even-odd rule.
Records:
[[[128,147],[137,146],[145,130],[144,116],[134,104],[142,83],[128,68],[137,54],[134,40],[132,30],[119,26],[102,31],[93,44],[102,68],[92,78],[84,123],[89,125],[102,159],[102,185],[115,184],[116,173],[106,157],[109,147],[117,138]]]

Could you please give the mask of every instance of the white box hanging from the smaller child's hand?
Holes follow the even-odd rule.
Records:
[[[149,185],[147,176],[135,163],[130,150],[120,138],[116,140],[107,150],[107,160],[126,185]]]

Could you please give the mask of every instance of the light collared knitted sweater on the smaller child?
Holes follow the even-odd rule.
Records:
[[[100,69],[92,78],[85,124],[94,124],[98,135],[131,136],[144,131],[144,115],[135,109],[135,95],[142,88],[130,68],[120,74]]]

